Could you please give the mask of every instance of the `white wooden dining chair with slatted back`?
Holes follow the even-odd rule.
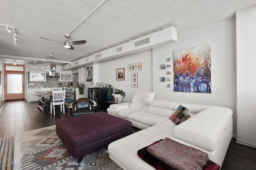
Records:
[[[63,110],[63,114],[65,114],[65,93],[66,90],[53,90],[52,91],[52,101],[51,101],[51,111],[53,106],[53,115],[55,115],[55,105],[60,105],[60,111]]]

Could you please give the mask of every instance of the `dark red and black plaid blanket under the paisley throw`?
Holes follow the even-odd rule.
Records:
[[[162,140],[163,139],[156,141],[156,142],[152,143],[151,145],[154,145]],[[149,145],[149,146],[151,146],[151,145]],[[156,170],[175,170],[168,164],[164,163],[162,160],[159,160],[158,158],[156,158],[152,154],[150,154],[147,151],[147,148],[149,146],[138,150],[137,154],[142,160],[144,160],[145,162],[147,162],[148,164],[150,164],[151,166],[156,168]],[[208,160],[206,165],[203,166],[203,170],[220,170],[220,166],[218,164],[212,162],[211,160]]]

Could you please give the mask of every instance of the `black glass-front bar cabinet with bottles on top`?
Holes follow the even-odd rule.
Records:
[[[88,99],[97,103],[100,109],[106,109],[108,88],[88,88]]]

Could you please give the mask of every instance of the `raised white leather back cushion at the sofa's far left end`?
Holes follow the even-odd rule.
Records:
[[[148,102],[150,100],[153,100],[154,96],[154,92],[135,92],[135,94],[132,97],[132,103],[148,105]]]

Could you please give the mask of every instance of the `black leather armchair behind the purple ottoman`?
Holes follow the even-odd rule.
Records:
[[[69,113],[72,116],[80,116],[97,111],[97,104],[88,98],[80,98],[69,105]]]

